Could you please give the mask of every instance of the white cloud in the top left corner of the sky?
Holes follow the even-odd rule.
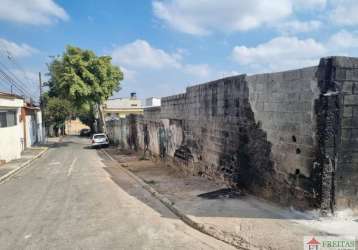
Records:
[[[1,0],[0,19],[16,23],[43,25],[68,20],[66,11],[53,0]]]

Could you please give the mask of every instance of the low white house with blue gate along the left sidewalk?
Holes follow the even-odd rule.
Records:
[[[15,94],[0,92],[0,163],[43,142],[41,110]]]

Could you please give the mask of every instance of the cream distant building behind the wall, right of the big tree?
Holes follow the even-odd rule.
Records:
[[[141,100],[137,99],[136,93],[131,93],[130,98],[110,99],[103,105],[106,120],[125,118],[129,114],[143,114]]]

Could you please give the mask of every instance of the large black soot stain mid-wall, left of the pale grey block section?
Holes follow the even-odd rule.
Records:
[[[268,190],[274,178],[271,143],[254,119],[245,79],[224,82],[224,100],[232,93],[240,98],[235,99],[233,106],[224,101],[224,116],[236,114],[237,119],[234,127],[226,120],[222,124],[220,171],[233,186],[255,193]]]

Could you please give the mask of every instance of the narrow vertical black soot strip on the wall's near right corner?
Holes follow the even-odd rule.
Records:
[[[320,97],[315,103],[317,117],[317,137],[319,144],[318,168],[315,173],[317,193],[322,214],[334,211],[335,171],[340,141],[340,96],[332,70],[332,58],[322,59],[318,70]]]

